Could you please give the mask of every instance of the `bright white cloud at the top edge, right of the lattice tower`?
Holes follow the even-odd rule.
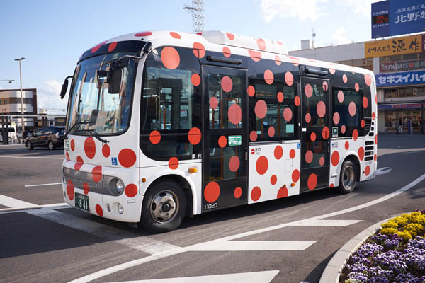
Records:
[[[273,21],[273,18],[300,18],[300,20],[314,21],[324,16],[324,6],[328,0],[261,0],[260,8],[264,21]]]

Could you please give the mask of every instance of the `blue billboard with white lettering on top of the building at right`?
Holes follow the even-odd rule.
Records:
[[[372,38],[424,30],[424,0],[388,0],[372,4]]]

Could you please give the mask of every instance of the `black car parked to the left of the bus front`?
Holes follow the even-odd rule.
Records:
[[[26,139],[27,149],[34,147],[47,147],[50,150],[56,147],[64,146],[64,128],[63,127],[44,127],[34,131],[33,135]]]

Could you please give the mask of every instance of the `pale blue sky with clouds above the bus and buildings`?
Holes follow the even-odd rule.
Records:
[[[370,4],[376,0],[205,0],[204,30],[224,30],[315,47],[371,40]],[[183,6],[191,0],[13,0],[0,4],[0,89],[37,88],[38,108],[60,113],[66,76],[80,55],[112,37],[152,30],[192,32]],[[64,114],[64,111],[62,112]]]

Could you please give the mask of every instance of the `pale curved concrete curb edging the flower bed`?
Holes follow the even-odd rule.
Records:
[[[324,267],[319,283],[339,283],[339,276],[341,275],[342,267],[344,267],[348,258],[350,258],[350,256],[364,243],[364,241],[369,238],[369,236],[372,236],[375,232],[381,229],[382,223],[385,223],[392,218],[394,218],[394,216],[382,220],[377,224],[373,224],[351,238],[350,241],[346,242],[345,245],[334,254],[331,260],[329,260],[327,266]]]

